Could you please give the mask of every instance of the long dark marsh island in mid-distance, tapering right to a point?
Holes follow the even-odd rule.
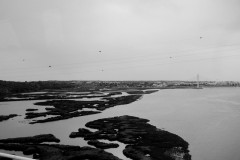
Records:
[[[128,95],[121,97],[106,97],[103,98],[104,101],[51,100],[45,102],[37,102],[35,105],[53,106],[53,108],[47,107],[46,112],[27,112],[25,119],[46,117],[48,115],[54,116],[30,122],[30,124],[34,124],[97,114],[101,113],[100,111],[103,111],[110,107],[132,103],[138,100],[140,97],[141,95]],[[84,109],[95,109],[98,111],[84,111]]]

